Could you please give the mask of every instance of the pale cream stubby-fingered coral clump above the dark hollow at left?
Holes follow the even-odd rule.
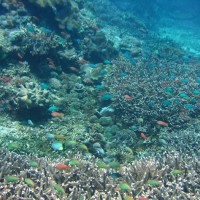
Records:
[[[15,93],[14,103],[20,108],[47,106],[50,102],[48,90],[42,89],[40,85],[34,82],[20,85],[20,88]]]

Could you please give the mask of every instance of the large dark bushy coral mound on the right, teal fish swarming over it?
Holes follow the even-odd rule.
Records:
[[[198,65],[158,59],[152,54],[135,64],[124,58],[114,60],[104,84],[114,96],[111,106],[124,124],[132,125],[142,118],[147,126],[164,120],[180,127],[199,113],[198,74]]]

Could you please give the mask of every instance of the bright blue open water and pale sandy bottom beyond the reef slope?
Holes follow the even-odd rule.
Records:
[[[200,55],[200,1],[112,0],[123,12],[143,20],[148,29],[170,38],[185,50]]]

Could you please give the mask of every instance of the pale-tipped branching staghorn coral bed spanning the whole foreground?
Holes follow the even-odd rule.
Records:
[[[72,161],[72,156],[76,161]],[[199,160],[176,152],[157,155],[157,160],[152,157],[143,158],[120,169],[100,169],[94,158],[85,159],[81,154],[73,155],[72,152],[65,159],[50,161],[47,158],[0,150],[0,161],[2,200],[120,200],[126,195],[136,199],[141,196],[162,200],[200,198]],[[71,169],[57,170],[55,163],[61,162],[67,165],[71,163]],[[113,173],[120,173],[121,176],[112,177]],[[29,180],[27,184],[27,179],[32,182]],[[121,183],[127,183],[129,190],[120,189]]]

